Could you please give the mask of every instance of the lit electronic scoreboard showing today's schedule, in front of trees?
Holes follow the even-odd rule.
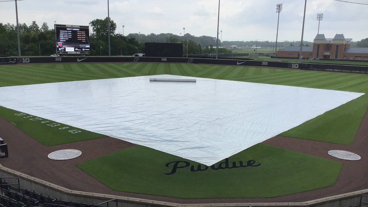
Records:
[[[55,24],[57,54],[90,54],[89,26]]]

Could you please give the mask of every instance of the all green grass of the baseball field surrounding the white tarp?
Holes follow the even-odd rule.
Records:
[[[365,93],[279,134],[285,140],[290,137],[321,145],[331,143],[334,147],[348,147],[353,144],[368,108],[367,75],[244,66],[170,63],[4,65],[0,67],[0,86],[159,74]],[[4,107],[0,107],[0,117],[46,147],[106,137]],[[343,165],[336,159],[312,156],[269,143],[254,145],[212,166],[139,145],[76,164],[114,191],[184,199],[270,198],[322,189],[335,185]]]

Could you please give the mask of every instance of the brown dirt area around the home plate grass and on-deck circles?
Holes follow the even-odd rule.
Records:
[[[0,164],[15,171],[66,187],[94,193],[137,197],[174,203],[269,203],[302,202],[323,197],[368,189],[368,111],[351,145],[324,143],[299,138],[276,136],[263,142],[287,150],[297,151],[316,157],[344,163],[336,185],[322,189],[295,193],[286,196],[265,199],[178,199],[138,193],[117,192],[77,168],[81,163],[102,155],[110,154],[134,146],[134,144],[116,138],[105,137],[75,143],[45,147],[38,141],[17,129],[13,124],[0,117],[0,137],[8,144],[9,158],[0,159]],[[50,152],[61,149],[81,150],[81,156],[66,161],[47,158]],[[359,161],[346,161],[328,155],[329,150],[347,150],[361,156]]]

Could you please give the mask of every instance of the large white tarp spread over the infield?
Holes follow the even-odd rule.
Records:
[[[172,75],[0,88],[0,105],[205,165],[230,157],[362,93]],[[123,158],[122,158],[123,159]]]

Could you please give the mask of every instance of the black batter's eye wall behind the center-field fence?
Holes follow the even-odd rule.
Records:
[[[183,57],[182,43],[155,43],[146,42],[146,57]]]

